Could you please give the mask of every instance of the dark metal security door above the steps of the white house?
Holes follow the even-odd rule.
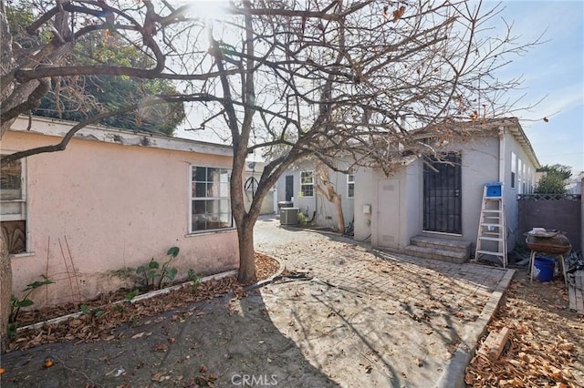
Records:
[[[462,234],[462,168],[458,153],[423,166],[423,230]]]

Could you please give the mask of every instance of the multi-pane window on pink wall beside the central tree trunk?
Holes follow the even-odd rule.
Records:
[[[231,170],[191,166],[191,232],[233,228]]]

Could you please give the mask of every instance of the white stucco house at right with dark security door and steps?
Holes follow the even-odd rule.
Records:
[[[433,128],[412,132],[436,149],[440,162],[406,153],[395,158],[389,177],[379,168],[333,173],[347,204],[345,220],[354,220],[356,240],[370,239],[375,248],[438,260],[468,260],[474,254],[485,183],[502,182],[507,250],[513,249],[517,195],[532,192],[540,167],[535,152],[515,117],[456,126],[464,131],[454,131],[440,144],[433,143]],[[295,197],[294,206],[303,210],[312,201],[308,213],[316,209],[320,224],[331,214],[330,204],[319,205],[322,198],[306,195],[309,187],[302,185],[312,181],[312,170],[308,165],[285,173],[278,181],[277,198],[288,199],[300,190],[305,195]],[[321,214],[322,209],[326,212]],[[453,247],[461,254],[453,254]]]

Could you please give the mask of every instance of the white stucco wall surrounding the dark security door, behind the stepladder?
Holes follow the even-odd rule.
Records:
[[[371,178],[369,180],[361,178],[368,183],[359,185],[356,203],[372,202],[378,204],[378,209],[373,209],[373,217],[371,219],[372,245],[401,250],[416,235],[422,234],[430,237],[443,235],[444,238],[470,241],[474,250],[485,183],[502,180],[504,182],[504,202],[506,207],[507,249],[512,250],[516,240],[518,184],[516,184],[515,189],[511,189],[511,153],[514,152],[516,158],[521,158],[522,162],[533,172],[536,166],[532,158],[528,158],[526,150],[517,143],[516,137],[508,131],[505,135],[504,146],[501,146],[495,130],[491,132],[490,136],[467,139],[464,142],[448,145],[441,148],[441,150],[461,152],[463,233],[461,235],[443,235],[442,233],[423,231],[423,166],[422,162],[418,160],[402,169],[397,169],[396,173],[389,178],[397,179],[397,185],[400,189],[399,205],[396,206],[388,199],[378,198],[380,181],[387,178],[381,177],[379,172],[370,174]],[[500,155],[503,155],[504,158],[501,158]],[[527,181],[526,191],[529,190],[531,183],[533,183],[531,180]],[[397,197],[392,196],[391,198],[396,199]],[[381,211],[381,217],[393,217],[395,222],[399,222],[399,231],[397,232],[399,237],[396,236],[396,240],[391,243],[383,243],[380,238],[380,234],[384,232],[384,230],[380,230],[381,225],[378,220],[380,207],[391,209],[392,212],[391,214],[383,215]],[[395,210],[397,207],[399,207],[399,211]]]

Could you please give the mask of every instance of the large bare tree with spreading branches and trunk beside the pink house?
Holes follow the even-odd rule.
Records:
[[[447,136],[457,120],[470,117],[479,125],[510,114],[516,102],[505,93],[520,80],[500,80],[495,72],[530,46],[517,45],[510,28],[489,29],[500,8],[484,10],[480,1],[242,0],[216,20],[166,0],[34,1],[36,20],[27,29],[33,43],[26,47],[13,45],[2,3],[1,134],[36,107],[50,77],[180,81],[182,95],[160,100],[192,102],[199,127],[233,145],[231,201],[243,282],[255,279],[253,228],[262,199],[291,164],[314,156],[338,168],[335,158],[351,155],[356,164],[390,173],[389,150],[398,144],[433,153],[406,124]],[[98,30],[122,36],[153,66],[62,66],[75,40]],[[95,121],[89,117],[68,137]],[[3,160],[64,149],[67,141]],[[255,150],[270,159],[245,210],[245,158]]]

